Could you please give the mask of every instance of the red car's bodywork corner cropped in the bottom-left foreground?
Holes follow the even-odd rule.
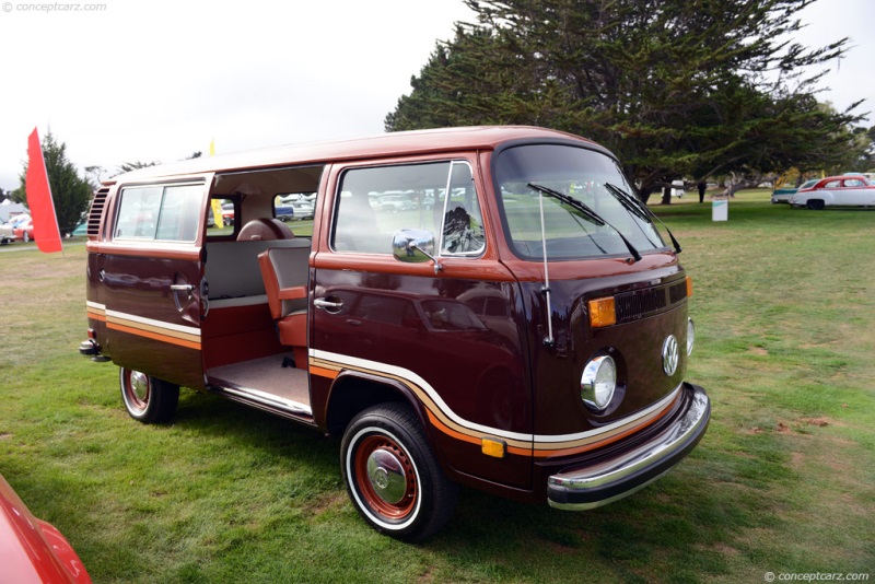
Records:
[[[3,582],[91,582],[70,542],[57,527],[37,519],[2,476],[0,558]]]

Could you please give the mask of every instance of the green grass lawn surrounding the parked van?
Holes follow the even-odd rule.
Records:
[[[875,211],[743,191],[713,223],[690,199],[653,209],[693,277],[688,378],[713,400],[711,427],[612,505],[463,490],[448,528],[410,546],[359,518],[336,439],[185,389],[173,424],[139,424],[117,369],[77,351],[81,245],[0,252],[0,472],[95,582],[872,581]]]

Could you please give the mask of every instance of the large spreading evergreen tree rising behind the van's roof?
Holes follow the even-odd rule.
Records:
[[[825,167],[862,116],[820,107],[827,61],[788,40],[814,0],[466,0],[389,131],[534,124],[614,150],[644,194],[673,178]]]

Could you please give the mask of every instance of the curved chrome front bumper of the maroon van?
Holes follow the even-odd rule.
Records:
[[[552,507],[583,511],[622,499],[662,477],[704,435],[711,401],[704,389],[684,384],[685,404],[668,428],[621,455],[583,468],[565,468],[547,479]]]

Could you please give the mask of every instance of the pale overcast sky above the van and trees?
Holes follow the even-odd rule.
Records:
[[[206,155],[212,139],[224,153],[381,133],[435,42],[471,17],[462,0],[78,1],[105,8],[0,0],[4,190],[19,186],[34,127],[104,177],[124,162]],[[875,2],[819,0],[803,20],[801,42],[854,47],[820,100],[875,109]]]

